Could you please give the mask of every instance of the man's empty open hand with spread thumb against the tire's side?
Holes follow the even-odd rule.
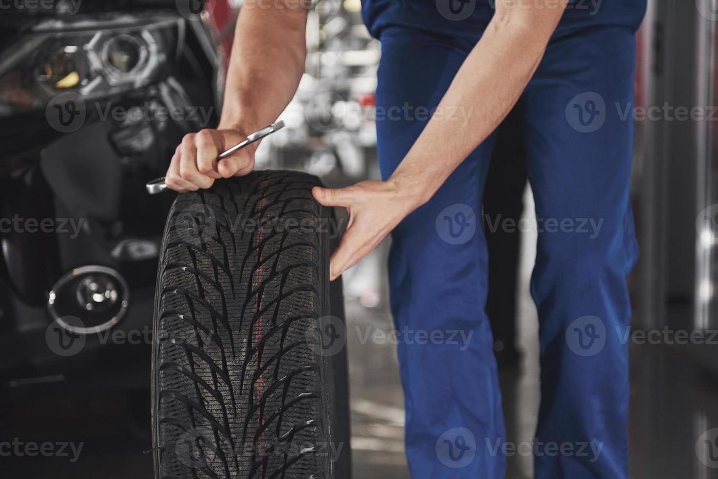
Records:
[[[314,199],[325,207],[345,207],[349,224],[330,260],[335,280],[368,255],[417,204],[390,181],[361,181],[342,189],[314,186]]]

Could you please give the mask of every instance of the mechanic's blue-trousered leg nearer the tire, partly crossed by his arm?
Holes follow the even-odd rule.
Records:
[[[381,44],[377,115],[386,118],[378,118],[377,131],[386,179],[426,125],[416,109],[439,103],[472,45],[408,29],[384,32]],[[406,113],[392,118],[390,109],[404,106]],[[458,125],[462,115],[453,114]],[[413,479],[503,478],[504,457],[491,453],[500,451],[504,428],[484,312],[487,251],[479,217],[490,143],[493,137],[392,235],[391,309],[401,332]]]

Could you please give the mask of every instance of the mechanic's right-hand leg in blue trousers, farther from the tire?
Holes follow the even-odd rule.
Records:
[[[556,40],[521,98],[542,219],[531,278],[541,346],[536,479],[628,477],[625,277],[638,248],[633,123],[622,113],[633,106],[634,59],[628,29]]]

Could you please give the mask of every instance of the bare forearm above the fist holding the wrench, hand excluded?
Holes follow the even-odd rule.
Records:
[[[220,128],[251,133],[276,120],[304,72],[307,10],[246,2],[237,20]]]

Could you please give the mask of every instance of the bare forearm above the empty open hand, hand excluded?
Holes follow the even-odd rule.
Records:
[[[556,16],[555,22],[560,15]],[[495,16],[390,182],[418,207],[501,123],[536,71],[554,18],[543,29]],[[538,32],[537,32],[538,30]],[[461,115],[447,115],[459,110]]]

